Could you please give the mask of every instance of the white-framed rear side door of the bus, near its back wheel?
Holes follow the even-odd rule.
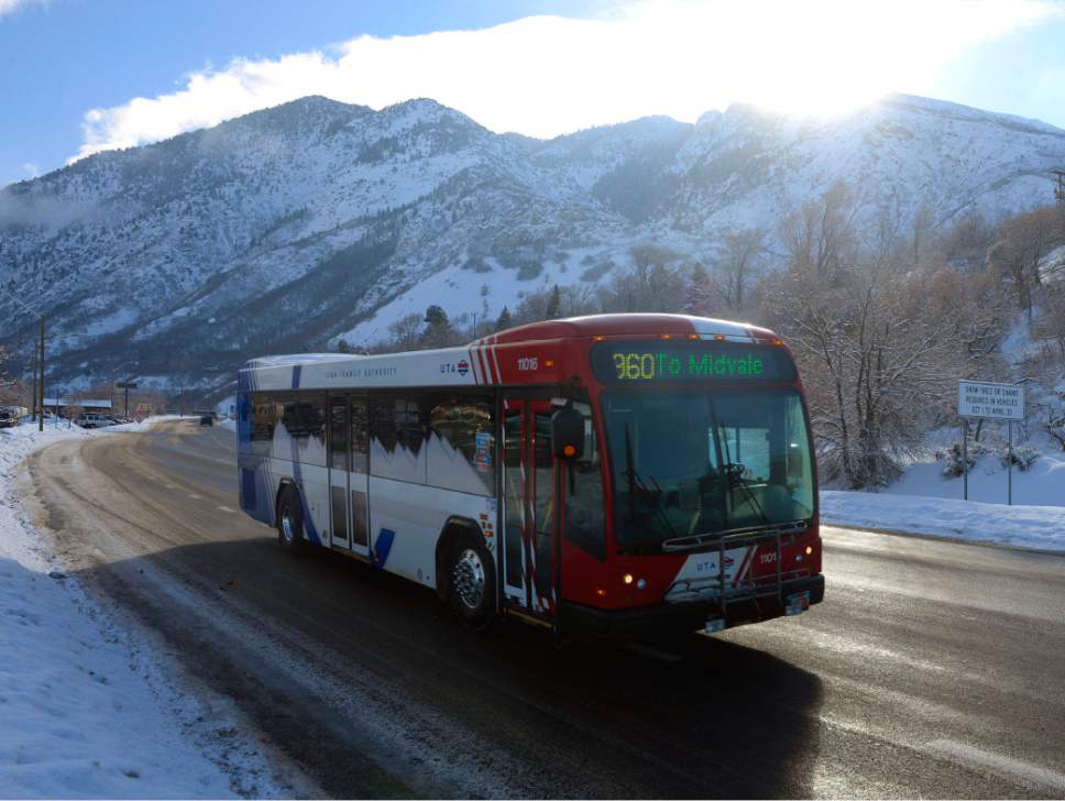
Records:
[[[363,557],[367,536],[366,397],[329,399],[330,545]]]

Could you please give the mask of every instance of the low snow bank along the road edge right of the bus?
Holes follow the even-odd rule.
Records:
[[[832,526],[1065,551],[1065,506],[1006,506],[955,498],[822,490],[821,520]]]

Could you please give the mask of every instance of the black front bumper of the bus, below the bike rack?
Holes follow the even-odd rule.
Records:
[[[803,593],[809,593],[803,596]],[[597,610],[583,604],[562,603],[562,627],[567,633],[602,639],[639,639],[669,634],[703,630],[707,622],[722,621],[720,628],[758,623],[782,616],[789,600],[802,597],[810,606],[825,594],[824,575],[786,581],[780,594],[751,599],[728,599],[725,616],[715,601],[662,603],[635,610]]]

